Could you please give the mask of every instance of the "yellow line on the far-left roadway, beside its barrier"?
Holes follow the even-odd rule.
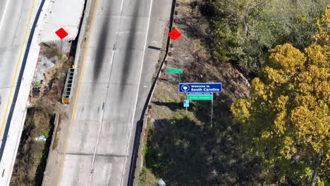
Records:
[[[2,124],[1,124],[0,137],[2,136],[2,132],[4,130],[4,124],[6,123],[6,116],[7,116],[7,113],[8,113],[9,103],[11,101],[11,96],[13,94],[13,87],[15,85],[18,68],[20,66],[20,58],[22,57],[22,54],[23,54],[23,48],[24,48],[24,44],[25,44],[25,39],[26,39],[26,36],[27,36],[27,32],[29,31],[30,20],[32,18],[32,13],[33,13],[33,9],[34,8],[35,8],[35,0],[33,0],[33,3],[32,3],[32,8],[31,8],[31,11],[30,11],[29,20],[27,21],[27,27],[25,28],[25,34],[24,34],[24,37],[23,37],[23,43],[22,43],[22,46],[20,46],[20,55],[18,56],[18,61],[16,63],[16,69],[15,69],[15,73],[14,73],[14,77],[13,77],[13,82],[11,82],[11,92],[9,92],[9,97],[8,97],[8,101],[7,101],[7,104],[6,104],[6,110],[5,110],[5,113],[4,113],[4,119],[2,120]]]

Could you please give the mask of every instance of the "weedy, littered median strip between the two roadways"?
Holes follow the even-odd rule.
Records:
[[[30,106],[20,138],[11,185],[42,184],[55,113],[59,114],[59,123],[67,118],[65,106],[60,101],[68,68],[71,68],[74,58],[69,56],[69,52],[63,53],[56,44],[41,44],[37,68],[47,66],[41,58],[51,61],[54,66],[44,70],[42,80],[32,82]],[[56,144],[55,137],[53,148]]]

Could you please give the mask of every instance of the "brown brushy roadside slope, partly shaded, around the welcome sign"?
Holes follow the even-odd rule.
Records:
[[[213,58],[209,25],[194,1],[178,1],[174,26],[183,34],[172,42],[166,67],[183,68],[182,82],[222,82],[224,92],[211,101],[191,101],[183,108],[184,94],[177,90],[176,75],[161,75],[152,98],[147,123],[144,165],[139,185],[221,185],[258,178],[257,159],[238,145],[238,125],[231,122],[229,106],[247,96],[247,85],[230,63]]]

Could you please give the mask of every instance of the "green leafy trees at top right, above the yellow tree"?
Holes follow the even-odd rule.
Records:
[[[212,20],[214,56],[259,73],[269,49],[291,43],[302,50],[313,42],[314,24],[325,0],[204,0]]]

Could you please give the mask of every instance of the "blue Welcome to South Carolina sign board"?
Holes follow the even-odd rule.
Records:
[[[221,92],[221,82],[212,83],[180,83],[178,87],[181,93],[193,93],[193,92]]]

